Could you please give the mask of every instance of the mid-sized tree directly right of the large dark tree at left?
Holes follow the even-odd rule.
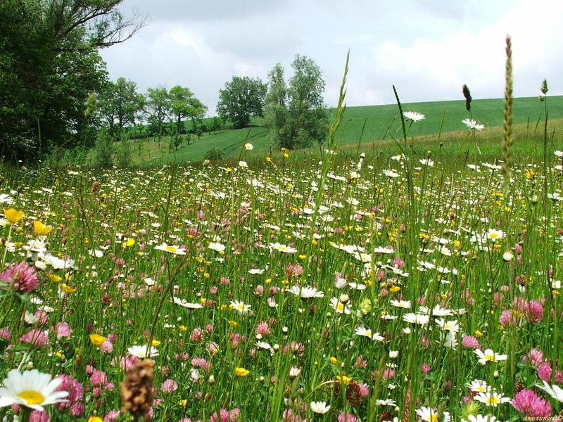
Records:
[[[137,84],[123,77],[108,82],[99,95],[99,113],[112,136],[121,135],[125,127],[135,124],[144,110],[145,97],[137,93]],[[115,124],[118,129],[115,130]]]

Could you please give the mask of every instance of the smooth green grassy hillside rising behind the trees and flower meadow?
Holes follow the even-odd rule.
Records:
[[[497,127],[502,124],[503,100],[483,99],[472,102],[472,117],[486,128]],[[550,119],[563,117],[563,96],[548,98]],[[469,117],[465,110],[464,101],[434,101],[426,103],[406,103],[403,110],[416,111],[426,115],[426,119],[413,124],[409,134],[424,136],[437,134],[443,119],[442,132],[460,131],[467,133],[467,128],[462,120]],[[543,117],[543,103],[537,97],[514,99],[514,123],[525,124],[526,130],[535,129],[538,119]],[[168,153],[169,139],[164,138],[158,143],[153,139],[134,141],[134,160],[139,164],[159,165],[163,162],[194,162],[202,160],[205,152],[210,148],[220,148],[225,157],[236,158],[245,139],[253,143],[255,152],[276,151],[277,146],[270,145],[267,139],[267,129],[260,126],[260,120],[253,121],[255,126],[246,129],[224,129],[215,134],[205,134],[191,143],[183,146],[178,151]],[[341,128],[338,132],[338,141],[341,146],[356,146],[360,141],[362,127],[365,124],[362,143],[369,143],[370,147],[377,148],[379,144],[386,143],[381,140],[399,136],[400,121],[396,105],[349,107],[346,110]]]

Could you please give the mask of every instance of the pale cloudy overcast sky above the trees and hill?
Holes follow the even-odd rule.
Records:
[[[548,79],[563,93],[561,0],[125,0],[150,22],[102,51],[110,78],[148,87],[189,87],[215,115],[233,75],[267,79],[296,53],[314,59],[334,106],[350,49],[348,106],[504,94],[505,37],[512,35],[514,95],[535,96]]]

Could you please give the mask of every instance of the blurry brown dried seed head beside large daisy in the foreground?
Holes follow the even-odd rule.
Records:
[[[137,362],[120,384],[122,409],[136,419],[145,417],[153,404],[153,365],[149,359]]]

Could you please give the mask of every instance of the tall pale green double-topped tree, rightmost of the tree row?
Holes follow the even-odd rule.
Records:
[[[265,123],[270,139],[289,149],[310,146],[313,141],[322,143],[328,129],[322,72],[314,60],[300,55],[291,67],[289,84],[279,63],[268,74]]]

